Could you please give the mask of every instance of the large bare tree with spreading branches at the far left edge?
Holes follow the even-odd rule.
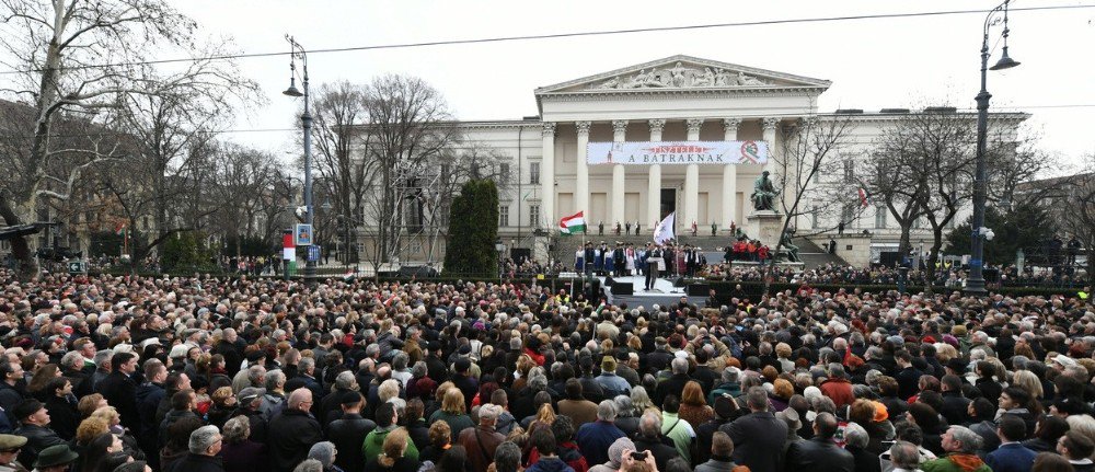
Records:
[[[2,92],[27,100],[33,111],[24,128],[30,146],[16,158],[21,172],[0,187],[8,225],[33,220],[39,198],[68,199],[83,171],[117,158],[113,146],[80,149],[73,158],[76,150],[56,142],[56,117],[94,120],[95,112],[116,108],[126,96],[194,88],[207,77],[209,62],[201,61],[174,73],[150,72],[150,51],[205,51],[194,42],[197,25],[165,0],[0,0],[0,48],[12,58],[4,66],[19,71],[5,76]],[[61,160],[67,164],[50,165]],[[13,241],[13,253],[21,275],[30,276],[34,261],[23,238]]]

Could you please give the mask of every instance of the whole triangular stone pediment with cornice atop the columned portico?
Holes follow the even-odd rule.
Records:
[[[537,95],[656,90],[829,88],[821,79],[677,55],[537,89]]]

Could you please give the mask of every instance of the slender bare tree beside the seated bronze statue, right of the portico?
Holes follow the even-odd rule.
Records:
[[[782,235],[788,232],[798,217],[810,212],[831,215],[842,210],[851,200],[844,185],[825,182],[821,176],[835,173],[839,168],[837,157],[848,145],[852,129],[852,122],[841,116],[828,119],[810,116],[784,128],[783,145],[774,158],[775,181],[783,196],[780,199],[783,225],[773,254],[780,254],[784,247]],[[814,204],[807,206],[807,200]],[[775,266],[776,258],[772,257],[764,266],[765,293],[770,284],[768,274]]]

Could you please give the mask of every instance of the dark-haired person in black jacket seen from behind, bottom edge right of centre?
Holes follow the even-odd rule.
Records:
[[[768,411],[768,391],[763,387],[749,389],[746,405],[749,414],[718,428],[734,441],[734,462],[756,472],[782,471],[780,451],[787,441],[787,424]],[[731,401],[729,406],[737,410],[738,402]]]

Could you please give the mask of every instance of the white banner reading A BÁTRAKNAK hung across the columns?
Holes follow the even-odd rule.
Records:
[[[763,164],[764,141],[590,142],[586,162],[596,164]]]

